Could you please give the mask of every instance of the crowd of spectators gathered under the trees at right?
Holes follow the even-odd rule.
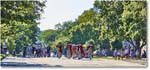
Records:
[[[95,53],[96,56],[113,56],[115,59],[123,59],[123,58],[136,58],[140,59],[141,57],[146,58],[146,49],[143,47],[141,51],[137,48],[129,48],[126,47],[122,49],[115,48],[113,51],[109,49],[98,49]]]

